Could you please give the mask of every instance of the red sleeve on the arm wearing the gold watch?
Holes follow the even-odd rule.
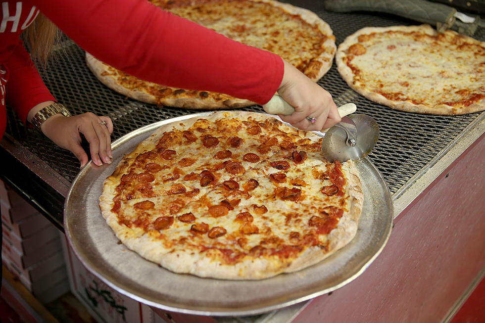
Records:
[[[10,72],[5,85],[6,101],[24,123],[35,105],[55,101],[22,44],[15,47],[3,64]]]

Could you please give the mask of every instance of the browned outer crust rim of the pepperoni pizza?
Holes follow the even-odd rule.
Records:
[[[124,156],[113,174],[103,182],[102,194],[99,197],[101,214],[106,220],[107,225],[123,244],[143,258],[175,273],[192,274],[198,277],[242,280],[264,279],[282,273],[292,273],[302,270],[331,256],[353,239],[357,232],[358,221],[362,210],[363,192],[358,170],[351,160],[342,163],[342,172],[346,178],[345,187],[347,194],[349,194],[347,207],[337,227],[329,233],[325,250],[319,246],[308,247],[291,262],[282,261],[277,256],[256,258],[246,256],[242,261],[227,265],[221,261],[211,259],[207,255],[207,253],[217,254],[218,251],[208,249],[203,252],[194,252],[192,250],[181,250],[180,248],[167,248],[143,229],[137,227],[128,228],[121,224],[117,214],[112,211],[114,206],[113,197],[116,195],[116,187],[120,184],[121,177],[136,162],[137,156],[155,148],[159,138],[165,132],[174,129],[189,129],[200,118],[215,121],[221,117],[238,118],[242,121],[257,120],[263,122],[264,120],[274,120],[280,126],[280,129],[286,132],[299,134],[303,138],[314,138],[313,133],[294,129],[266,114],[245,111],[220,111],[204,117],[194,117],[163,125],[141,142],[133,152]],[[309,165],[313,166],[314,164]],[[131,203],[131,201],[127,203]],[[311,201],[307,203],[311,203]]]

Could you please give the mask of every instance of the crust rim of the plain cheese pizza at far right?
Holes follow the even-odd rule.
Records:
[[[395,31],[395,32],[418,32],[423,35],[429,35],[429,36],[436,36],[438,35],[438,32],[431,27],[430,25],[419,25],[419,26],[391,26],[391,27],[365,27],[354,34],[348,36],[345,38],[345,40],[338,46],[337,53],[335,56],[335,60],[337,63],[337,70],[339,71],[340,76],[342,79],[347,83],[347,85],[352,88],[355,92],[360,93],[361,95],[367,97],[368,99],[377,102],[382,105],[386,105],[392,109],[395,110],[400,110],[400,111],[406,111],[406,112],[411,112],[411,113],[424,113],[424,114],[434,114],[434,115],[459,115],[459,114],[468,114],[468,113],[473,113],[473,112],[478,112],[478,111],[483,111],[485,110],[485,98],[481,99],[480,101],[470,104],[466,107],[461,107],[461,108],[456,108],[447,104],[434,104],[429,105],[429,104],[420,104],[420,103],[414,103],[412,100],[392,100],[388,99],[384,95],[376,92],[374,89],[370,88],[368,85],[363,84],[359,81],[355,81],[354,77],[355,74],[352,71],[352,69],[346,64],[346,58],[347,58],[347,50],[349,49],[350,46],[359,43],[359,37],[363,35],[370,35],[373,33],[383,33],[387,31]],[[479,42],[475,39],[472,39],[470,37],[466,37],[463,35],[459,35],[458,33],[448,30],[443,35],[446,35],[447,37],[451,38],[460,38],[460,40],[466,40],[466,42],[469,42],[471,44],[479,45],[485,48],[485,42]],[[395,59],[399,60],[399,53],[395,54]],[[391,63],[391,62],[390,62]],[[391,64],[389,64],[391,65]],[[382,74],[386,73],[393,73],[396,72],[395,70],[392,69],[386,69],[387,66],[370,66],[370,69],[379,69],[382,71]],[[398,83],[402,81],[402,77],[395,77],[391,82]],[[458,82],[459,83],[459,82]],[[485,93],[485,88],[482,91]],[[426,95],[425,92],[409,92],[409,93],[404,93],[404,94],[409,94],[410,98],[412,99],[413,97],[420,98],[423,95]]]

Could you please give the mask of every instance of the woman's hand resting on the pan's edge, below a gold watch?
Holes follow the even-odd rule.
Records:
[[[89,142],[89,150],[93,162],[101,166],[111,164],[111,138],[113,123],[109,117],[98,117],[86,112],[64,117],[56,114],[48,118],[41,126],[41,131],[59,147],[70,150],[80,161],[81,167],[88,163],[88,155],[81,146],[83,134]]]

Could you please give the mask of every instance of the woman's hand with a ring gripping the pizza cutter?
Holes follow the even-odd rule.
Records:
[[[293,65],[284,61],[285,72],[278,94],[290,103],[295,111],[280,118],[301,130],[322,130],[334,126],[341,118],[332,95],[310,80]],[[313,123],[307,117],[314,118]]]

